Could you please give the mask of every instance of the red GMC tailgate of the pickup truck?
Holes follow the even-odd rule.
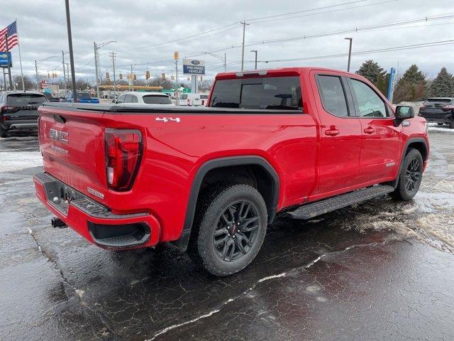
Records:
[[[44,170],[97,201],[106,202],[104,112],[40,107]]]

